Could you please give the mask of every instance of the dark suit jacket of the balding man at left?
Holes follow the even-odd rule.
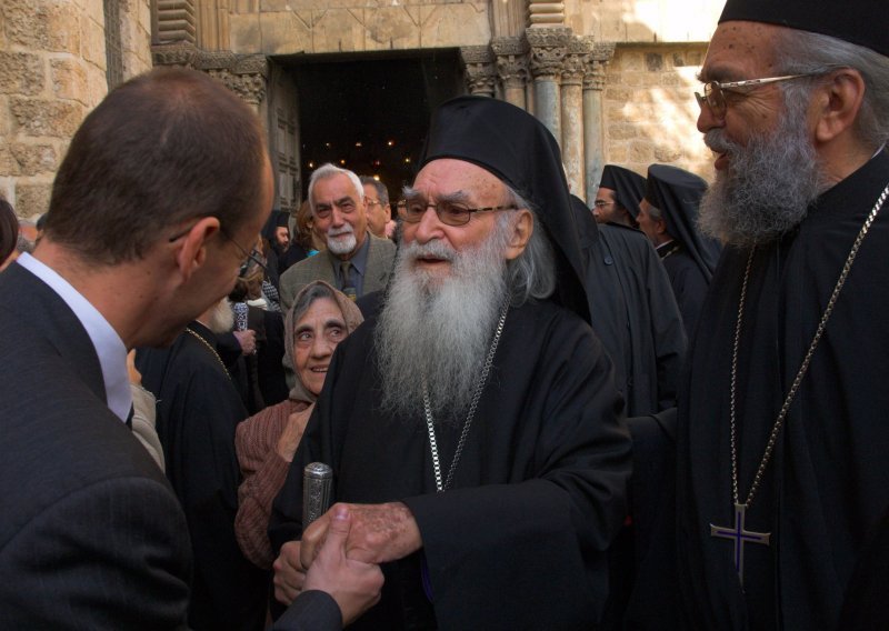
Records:
[[[184,628],[186,518],[86,329],[18,263],[0,292],[0,628]]]

